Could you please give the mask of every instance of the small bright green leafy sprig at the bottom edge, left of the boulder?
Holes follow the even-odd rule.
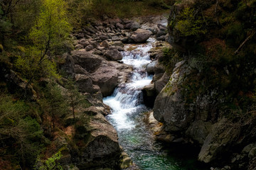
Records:
[[[58,152],[52,157],[48,158],[46,162],[43,162],[43,165],[39,167],[39,170],[63,170],[63,167],[60,166],[58,160],[62,157],[62,154]]]

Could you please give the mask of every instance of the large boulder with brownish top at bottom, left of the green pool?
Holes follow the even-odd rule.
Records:
[[[76,160],[79,169],[111,168],[119,169],[121,149],[117,140],[117,132],[100,113],[91,116],[88,125],[80,125],[76,133],[81,137],[83,147],[79,148],[80,157]]]

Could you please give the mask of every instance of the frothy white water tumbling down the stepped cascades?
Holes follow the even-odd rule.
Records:
[[[150,38],[147,44],[137,45],[132,51],[127,51],[131,45],[124,48],[122,62],[134,67],[131,81],[128,84],[120,84],[112,96],[103,100],[112,108],[112,114],[109,117],[117,130],[135,128],[134,120],[129,117],[146,108],[142,105],[141,89],[152,80],[152,76],[149,76],[145,69],[146,64],[151,62],[148,52],[153,42],[154,39]]]

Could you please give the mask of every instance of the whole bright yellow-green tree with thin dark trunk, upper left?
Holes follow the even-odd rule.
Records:
[[[41,8],[41,13],[36,20],[35,26],[31,28],[28,38],[33,42],[33,47],[29,49],[31,55],[26,56],[26,62],[17,64],[18,68],[28,68],[28,84],[33,81],[36,72],[47,72],[49,67],[42,67],[43,64],[53,66],[53,54],[61,47],[62,43],[68,38],[71,26],[66,16],[65,1],[63,0],[45,0]],[[24,57],[20,57],[21,60]],[[17,62],[21,62],[18,60]],[[52,64],[49,64],[49,63]],[[33,64],[32,67],[29,64]],[[53,69],[51,69],[53,70]],[[23,74],[26,72],[22,72]],[[55,74],[55,72],[53,72]]]

